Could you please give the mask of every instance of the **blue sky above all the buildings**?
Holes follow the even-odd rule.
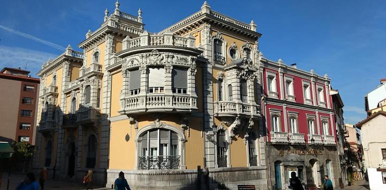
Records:
[[[3,0],[0,6],[0,67],[24,67],[32,75],[49,57],[103,21],[114,0]],[[212,9],[257,24],[260,50],[298,68],[327,73],[344,101],[346,122],[365,117],[363,96],[386,77],[386,3],[382,0],[209,0]],[[120,0],[157,32],[200,9],[203,0]]]

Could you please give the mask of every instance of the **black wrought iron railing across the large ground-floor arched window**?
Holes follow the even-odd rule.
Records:
[[[139,156],[138,169],[179,169],[179,155]]]

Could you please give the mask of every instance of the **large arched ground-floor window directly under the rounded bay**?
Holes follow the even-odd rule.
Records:
[[[138,169],[178,169],[178,135],[166,128],[143,132],[138,138]]]

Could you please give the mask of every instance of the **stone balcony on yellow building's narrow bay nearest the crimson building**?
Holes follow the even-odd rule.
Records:
[[[234,101],[217,101],[214,102],[214,114],[215,116],[258,116],[258,105],[247,104],[244,102]]]

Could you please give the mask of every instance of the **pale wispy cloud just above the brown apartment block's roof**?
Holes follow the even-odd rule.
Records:
[[[0,45],[0,57],[2,57],[0,68],[5,66],[25,67],[27,61],[27,70],[31,71],[31,75],[36,76],[42,64],[47,61],[48,58],[56,56],[55,54],[32,49]]]

